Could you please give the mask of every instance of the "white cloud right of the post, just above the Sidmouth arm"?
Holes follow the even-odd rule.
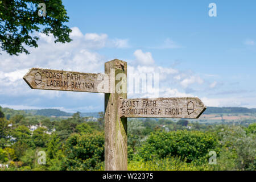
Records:
[[[135,92],[134,87],[136,88],[135,82],[134,82],[134,85],[131,85],[131,86],[128,84],[131,97],[164,97],[164,96],[168,96],[168,97],[191,96],[192,97],[191,94],[188,94],[185,92],[184,88],[187,88],[191,84],[202,85],[204,83],[203,78],[195,75],[191,71],[179,71],[171,67],[160,67],[158,65],[155,65],[154,59],[152,59],[151,52],[143,52],[141,49],[138,49],[134,52],[134,55],[136,57],[138,64],[134,64],[133,66],[128,64],[128,69],[127,69],[128,80],[141,79],[141,80],[147,80],[147,82],[144,83],[143,85],[142,83],[139,85],[139,94],[138,93],[133,94],[133,92]],[[147,60],[151,60],[151,61],[147,61]],[[156,82],[156,84],[159,86],[156,88],[149,87],[146,89],[142,89],[143,87],[145,87],[145,85],[148,84],[148,79],[151,79],[150,77],[153,77],[152,80],[155,81],[154,77],[156,75],[158,75],[157,77],[158,82]],[[141,82],[141,81],[138,81],[138,82]],[[155,83],[152,83],[152,86],[153,85],[155,85]],[[200,90],[200,89],[197,89],[197,90]]]

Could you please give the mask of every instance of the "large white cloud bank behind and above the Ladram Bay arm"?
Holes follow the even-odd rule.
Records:
[[[104,47],[124,48],[127,39],[109,39],[106,34],[88,33],[83,35],[77,27],[73,27],[70,43],[54,43],[53,35],[38,33],[39,47],[28,48],[30,55],[9,56],[3,52],[0,61],[0,94],[21,96],[26,94],[60,97],[64,93],[58,91],[31,90],[22,77],[33,67],[63,69],[78,72],[104,72],[104,56],[94,49]]]

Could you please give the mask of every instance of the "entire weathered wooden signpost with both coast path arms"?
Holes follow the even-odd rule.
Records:
[[[199,118],[197,97],[127,99],[127,63],[105,63],[104,73],[31,68],[23,77],[32,89],[105,93],[105,170],[127,170],[127,118]]]

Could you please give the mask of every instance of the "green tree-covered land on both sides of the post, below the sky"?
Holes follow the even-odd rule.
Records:
[[[0,170],[104,170],[104,114],[98,114],[89,121],[79,112],[61,119],[1,108]],[[127,125],[129,170],[256,169],[255,121],[129,118]],[[216,164],[209,163],[211,152]]]

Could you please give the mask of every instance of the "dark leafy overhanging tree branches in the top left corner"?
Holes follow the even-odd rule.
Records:
[[[39,7],[42,2],[46,5],[43,12]],[[71,42],[71,29],[64,25],[69,18],[61,0],[1,0],[0,12],[1,49],[9,55],[28,54],[24,45],[38,47],[39,38],[32,36],[33,32],[53,34],[55,43]]]

